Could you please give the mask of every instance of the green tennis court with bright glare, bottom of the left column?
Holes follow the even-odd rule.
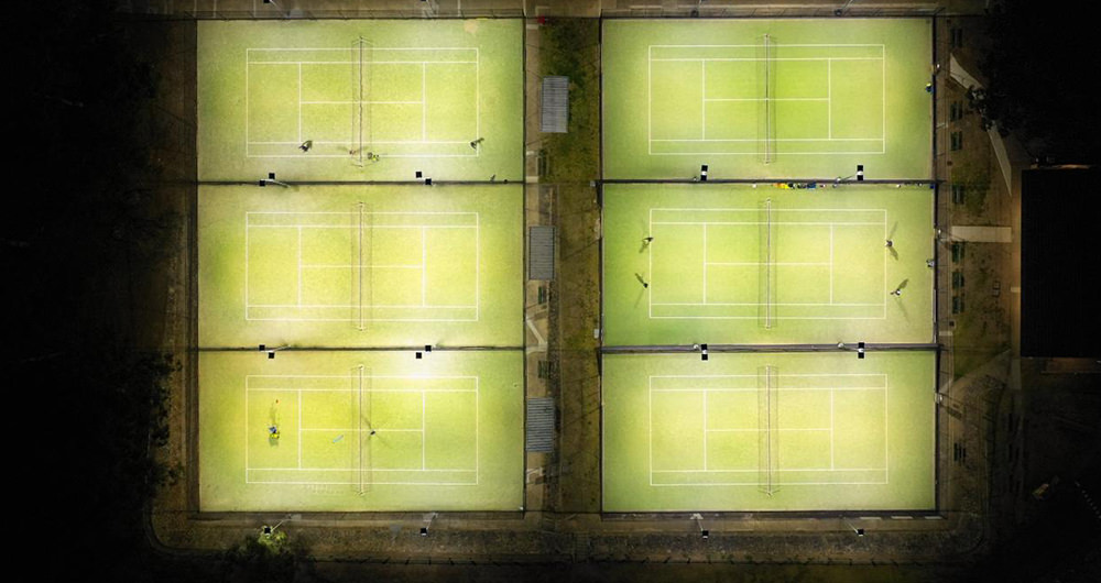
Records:
[[[520,351],[206,352],[199,377],[203,512],[523,504]]]

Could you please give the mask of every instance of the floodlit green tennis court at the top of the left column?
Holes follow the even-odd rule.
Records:
[[[199,22],[199,179],[520,180],[523,55],[520,20]]]

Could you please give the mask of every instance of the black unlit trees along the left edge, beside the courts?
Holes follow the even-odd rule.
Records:
[[[157,72],[111,2],[28,2],[6,21],[3,369],[26,501],[9,535],[33,553],[17,564],[35,558],[9,569],[138,581],[156,572],[144,505],[174,473],[148,453],[176,364],[138,345],[133,319],[175,224],[144,186]]]

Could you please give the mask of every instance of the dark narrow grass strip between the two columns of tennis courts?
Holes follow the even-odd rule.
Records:
[[[600,208],[591,180],[600,173],[600,23],[596,19],[547,19],[539,29],[539,76],[569,77],[569,125],[565,134],[541,134],[558,230],[557,278],[552,283],[552,382],[560,427],[549,508],[600,509],[600,413],[597,349],[600,327]]]

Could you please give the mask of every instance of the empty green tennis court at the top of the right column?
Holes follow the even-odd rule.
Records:
[[[931,176],[927,19],[606,20],[604,178]]]

